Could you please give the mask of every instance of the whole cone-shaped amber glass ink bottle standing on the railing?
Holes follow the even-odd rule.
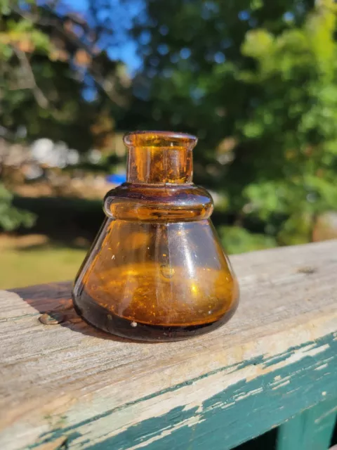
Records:
[[[89,323],[138,340],[180,340],[223,325],[237,281],[192,184],[194,136],[127,134],[126,183],[105,196],[107,219],[79,270],[74,305]]]

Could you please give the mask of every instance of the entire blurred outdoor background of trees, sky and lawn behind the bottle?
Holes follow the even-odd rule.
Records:
[[[0,288],[74,277],[134,129],[199,137],[227,252],[337,237],[333,0],[0,8]]]

